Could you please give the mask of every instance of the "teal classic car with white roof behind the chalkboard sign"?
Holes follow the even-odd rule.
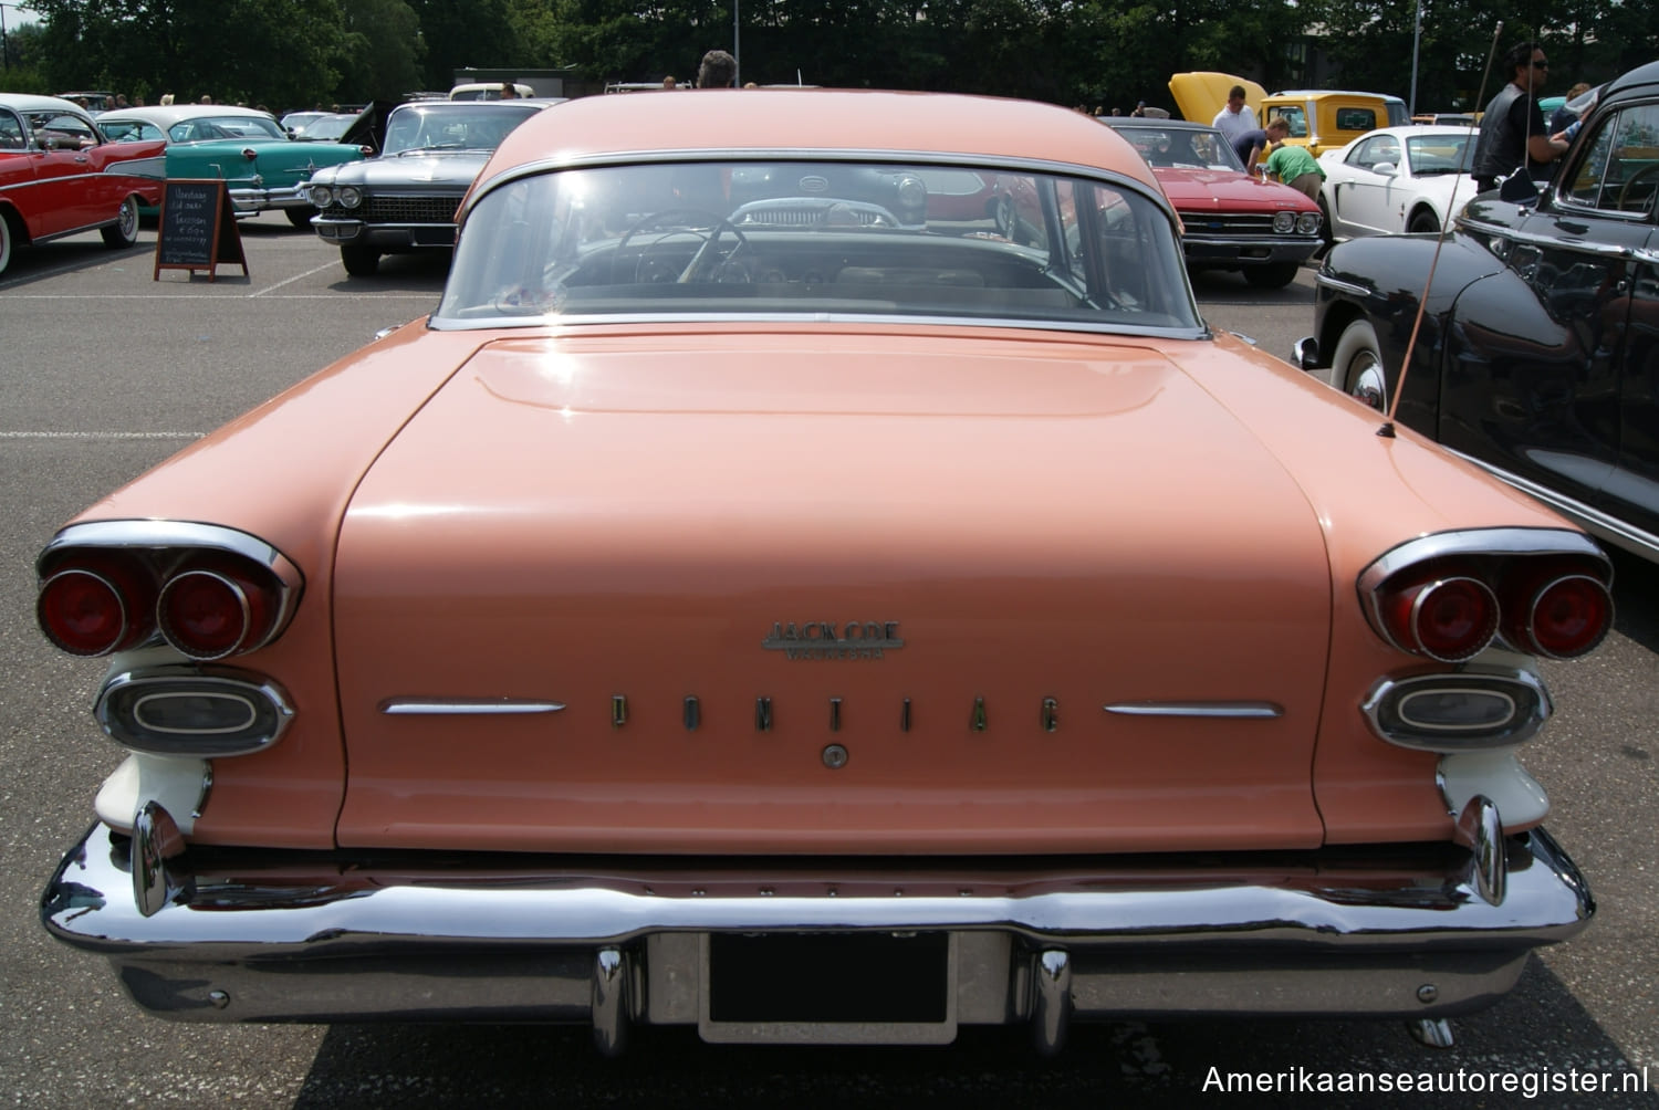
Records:
[[[269,111],[231,105],[123,108],[98,126],[111,141],[166,139],[168,178],[222,178],[237,216],[282,209],[295,227],[315,214],[300,186],[324,166],[363,158],[357,141],[295,143]]]

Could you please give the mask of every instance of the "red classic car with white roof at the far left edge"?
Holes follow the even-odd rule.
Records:
[[[109,143],[56,96],[0,93],[0,274],[20,246],[101,231],[138,242],[138,209],[161,201],[163,143]]]

